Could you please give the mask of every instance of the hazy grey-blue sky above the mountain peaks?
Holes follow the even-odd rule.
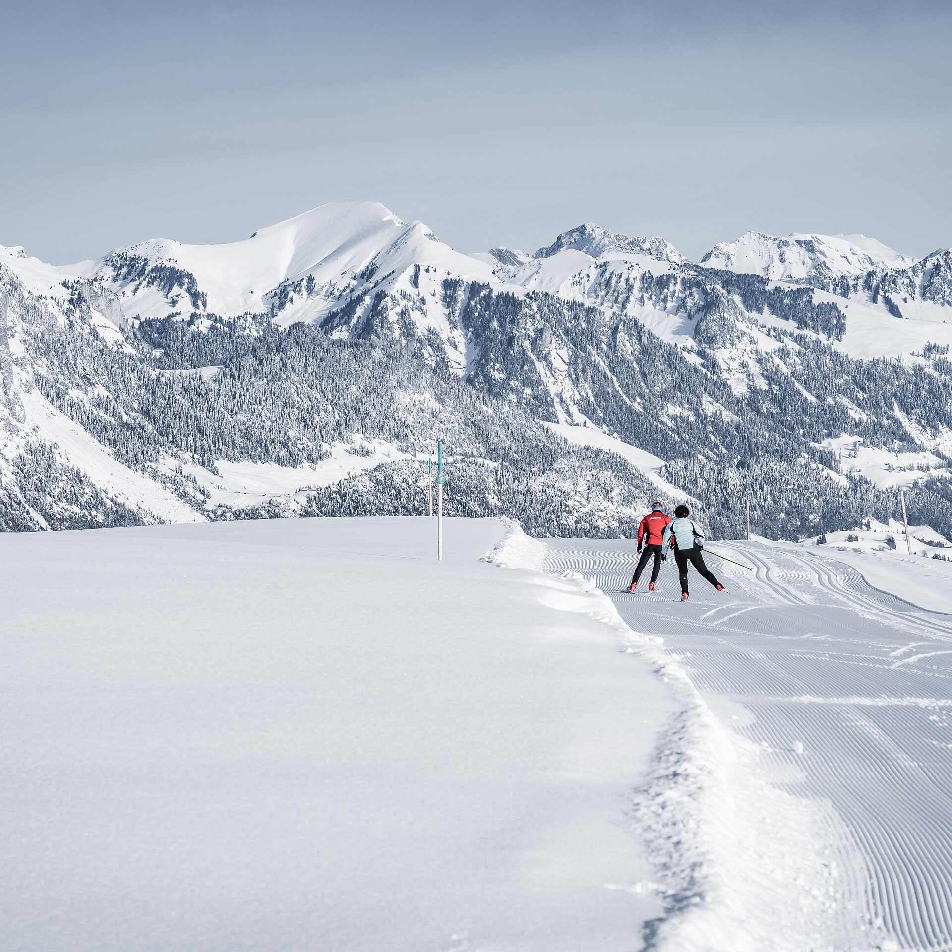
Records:
[[[952,4],[0,0],[0,244],[56,264],[379,201],[453,248],[583,222],[952,245]]]

